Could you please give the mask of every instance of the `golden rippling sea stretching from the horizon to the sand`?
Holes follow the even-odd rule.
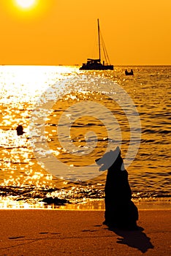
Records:
[[[0,66],[0,208],[104,208],[95,159],[116,146],[134,202],[170,205],[170,83],[171,66]]]

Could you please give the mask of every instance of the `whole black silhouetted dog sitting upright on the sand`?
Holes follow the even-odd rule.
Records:
[[[128,173],[124,169],[120,148],[109,151],[96,164],[99,170],[107,170],[104,188],[105,213],[104,224],[127,230],[137,230],[138,210],[132,202],[132,190],[129,187]]]

